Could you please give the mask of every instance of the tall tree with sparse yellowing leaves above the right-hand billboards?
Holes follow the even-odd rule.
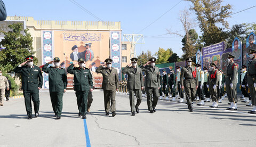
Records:
[[[190,7],[197,15],[199,27],[201,28],[202,39],[205,46],[225,41],[226,33],[223,28],[217,27],[217,23],[228,28],[226,19],[232,12],[231,5],[222,6],[222,0],[189,0],[193,3]]]

